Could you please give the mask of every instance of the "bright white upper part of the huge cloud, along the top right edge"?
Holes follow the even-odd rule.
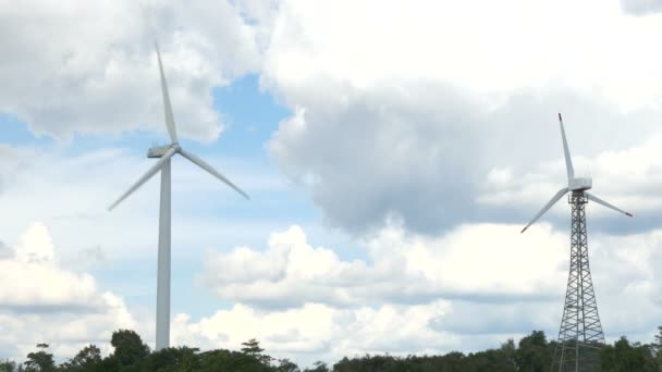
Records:
[[[660,28],[654,18],[624,16],[618,0],[420,0],[406,7],[293,0],[280,7],[266,72],[287,97],[309,91],[319,76],[357,87],[404,77],[477,92],[559,84],[590,90],[598,84],[629,108],[659,97],[662,53],[649,46]],[[635,60],[637,71],[628,67]]]

